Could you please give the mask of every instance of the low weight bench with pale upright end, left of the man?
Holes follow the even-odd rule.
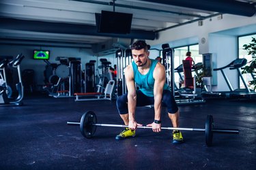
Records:
[[[74,101],[98,101],[98,100],[112,100],[112,92],[115,86],[114,80],[109,80],[106,84],[104,93],[102,92],[76,92]]]

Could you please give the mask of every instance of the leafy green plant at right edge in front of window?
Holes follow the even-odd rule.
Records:
[[[256,73],[256,39],[252,37],[250,44],[244,44],[244,50],[248,52],[248,55],[252,55],[252,60],[248,62],[249,65],[246,65],[242,71],[242,73],[251,73],[252,75]],[[252,80],[249,82],[251,86],[254,86],[256,89],[256,80]]]

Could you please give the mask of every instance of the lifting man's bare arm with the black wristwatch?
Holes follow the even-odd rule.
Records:
[[[166,81],[165,67],[158,63],[154,69],[153,77],[154,83],[154,120],[161,120],[161,109],[162,109],[162,91]],[[152,129],[154,132],[161,131],[161,124],[152,123]]]

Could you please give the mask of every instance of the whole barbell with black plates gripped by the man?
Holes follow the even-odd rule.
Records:
[[[98,124],[96,114],[92,111],[85,112],[81,117],[80,122],[67,122],[68,125],[80,126],[80,131],[84,137],[90,139],[94,136],[97,126],[107,127],[128,127],[122,124]],[[137,126],[138,129],[152,129],[150,126]],[[164,130],[179,130],[179,131],[204,131],[205,143],[207,146],[212,146],[212,139],[214,133],[226,133],[226,134],[239,134],[238,129],[217,129],[214,128],[214,120],[212,115],[208,115],[205,121],[205,129],[198,128],[173,128],[173,127],[161,127]]]

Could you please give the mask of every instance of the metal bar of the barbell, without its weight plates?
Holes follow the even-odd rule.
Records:
[[[80,125],[80,122],[67,122],[69,125]],[[123,124],[91,124],[91,126],[106,126],[106,127],[128,127],[128,125]],[[138,129],[152,129],[150,126],[137,126]],[[161,127],[164,130],[180,130],[180,131],[205,131],[205,129],[197,129],[197,128],[173,128],[173,127]],[[238,134],[239,131],[237,129],[212,129],[213,133],[231,133]]]

